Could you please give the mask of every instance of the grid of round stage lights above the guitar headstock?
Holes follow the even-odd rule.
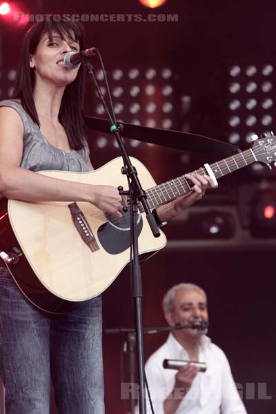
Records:
[[[224,128],[231,144],[246,146],[251,137],[275,124],[275,61],[240,61],[226,67]]]

